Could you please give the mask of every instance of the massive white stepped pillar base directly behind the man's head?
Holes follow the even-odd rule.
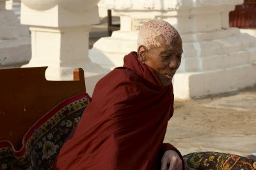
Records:
[[[207,96],[256,83],[256,39],[230,28],[228,13],[243,0],[108,0],[120,15],[120,31],[101,38],[90,50],[102,67],[122,66],[124,55],[136,51],[140,26],[166,20],[183,40],[182,64],[173,79],[175,97]]]

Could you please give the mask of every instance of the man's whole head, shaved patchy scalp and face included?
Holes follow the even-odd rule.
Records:
[[[170,85],[180,66],[182,40],[168,22],[150,20],[142,25],[138,36],[138,59],[154,69],[162,85]]]

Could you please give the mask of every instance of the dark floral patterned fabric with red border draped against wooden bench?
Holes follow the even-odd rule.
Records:
[[[0,141],[0,170],[51,169],[89,103],[90,97],[83,93],[58,104],[29,129],[20,151],[15,151],[9,141]]]

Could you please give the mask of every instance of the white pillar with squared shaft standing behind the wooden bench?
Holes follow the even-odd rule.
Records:
[[[88,58],[91,24],[99,22],[98,1],[22,0],[20,20],[29,25],[32,58],[26,67],[49,66],[47,80],[72,80],[73,69],[82,67],[90,94],[105,74]],[[88,80],[88,81],[87,81]]]

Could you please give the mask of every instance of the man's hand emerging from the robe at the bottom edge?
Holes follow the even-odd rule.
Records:
[[[181,170],[182,161],[175,150],[167,150],[164,152],[163,158],[161,160],[162,166],[161,170]]]

